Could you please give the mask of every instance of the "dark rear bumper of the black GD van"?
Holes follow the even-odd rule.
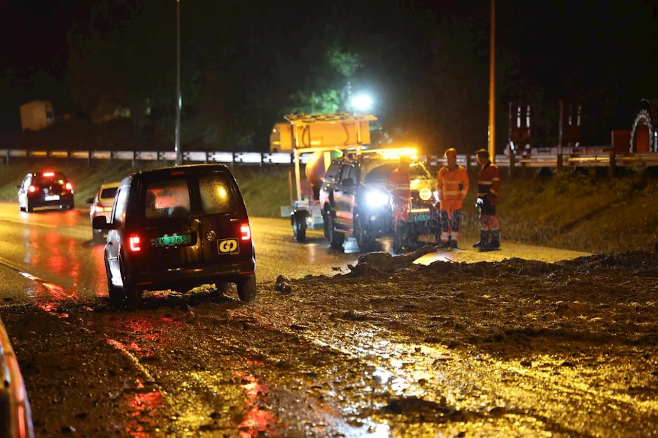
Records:
[[[209,283],[238,283],[256,270],[254,258],[233,264],[199,264],[184,268],[167,268],[132,273],[132,282],[139,289],[159,291],[178,285],[195,287]]]

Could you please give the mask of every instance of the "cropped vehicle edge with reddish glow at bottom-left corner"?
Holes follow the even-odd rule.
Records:
[[[28,393],[1,320],[0,383],[0,437],[34,438]]]

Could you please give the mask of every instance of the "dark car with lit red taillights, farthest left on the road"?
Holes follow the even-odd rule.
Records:
[[[30,172],[18,189],[18,207],[28,213],[39,207],[72,210],[73,185],[62,172]]]

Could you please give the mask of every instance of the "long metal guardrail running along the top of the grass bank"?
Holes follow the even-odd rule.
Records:
[[[547,149],[553,152],[557,148]],[[613,171],[617,167],[649,167],[658,166],[658,153],[623,154],[617,155],[612,151],[591,153],[595,148],[583,149],[590,153],[581,153],[577,149],[563,151],[563,153],[542,153],[536,155],[496,155],[495,163],[503,168],[575,168],[575,167],[609,167]],[[174,151],[28,151],[25,149],[0,149],[0,157],[5,158],[9,164],[14,158],[57,158],[67,160],[130,160],[135,165],[138,161],[175,161]],[[309,154],[301,155],[302,164],[306,164]],[[443,157],[436,155],[424,156],[428,164],[440,166],[445,164]],[[278,152],[230,152],[230,151],[186,151],[183,153],[183,161],[187,163],[219,162],[235,165],[257,165],[267,166],[271,164],[292,164],[291,153]],[[474,155],[459,155],[459,164],[467,168],[477,166]]]

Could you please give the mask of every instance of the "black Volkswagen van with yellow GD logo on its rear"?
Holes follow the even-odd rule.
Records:
[[[107,230],[105,271],[114,306],[136,306],[145,289],[189,290],[236,283],[256,299],[256,258],[247,208],[224,164],[136,172],[122,180],[112,210],[93,218]]]

